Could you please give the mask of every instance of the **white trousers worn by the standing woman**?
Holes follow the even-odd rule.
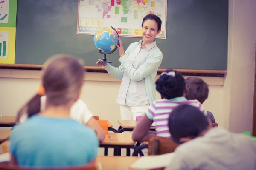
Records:
[[[148,107],[149,104],[139,107],[120,105],[121,120],[136,120],[136,116],[143,116]]]

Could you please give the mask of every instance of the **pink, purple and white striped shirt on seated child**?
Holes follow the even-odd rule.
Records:
[[[204,115],[207,115],[207,111],[203,108],[200,102],[197,100],[187,100],[185,97],[176,97],[173,99],[160,99],[155,100],[152,105],[149,106],[146,115],[149,119],[153,120],[156,127],[157,136],[170,138],[171,134],[168,127],[168,118],[173,109],[179,105],[192,105],[198,108]]]

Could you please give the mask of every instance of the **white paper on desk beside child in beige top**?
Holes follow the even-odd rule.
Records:
[[[145,170],[145,169],[157,169],[169,166],[173,159],[174,153],[167,153],[157,156],[142,156],[134,164],[131,165],[131,169]]]

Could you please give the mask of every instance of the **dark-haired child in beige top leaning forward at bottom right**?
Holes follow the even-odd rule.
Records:
[[[256,170],[256,144],[250,136],[211,125],[198,108],[176,107],[168,126],[180,145],[165,170]]]

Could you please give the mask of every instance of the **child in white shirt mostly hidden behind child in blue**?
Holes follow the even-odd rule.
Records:
[[[46,96],[41,97],[41,111],[45,108]],[[81,100],[78,99],[71,107],[70,110],[70,117],[72,119],[77,120],[83,125],[87,125],[88,127],[92,128],[96,131],[99,142],[104,141],[106,133],[100,127],[100,125],[96,122],[93,118],[93,114],[87,108],[87,105]],[[22,123],[27,119],[27,114],[23,114],[20,118],[18,118],[17,122]]]

